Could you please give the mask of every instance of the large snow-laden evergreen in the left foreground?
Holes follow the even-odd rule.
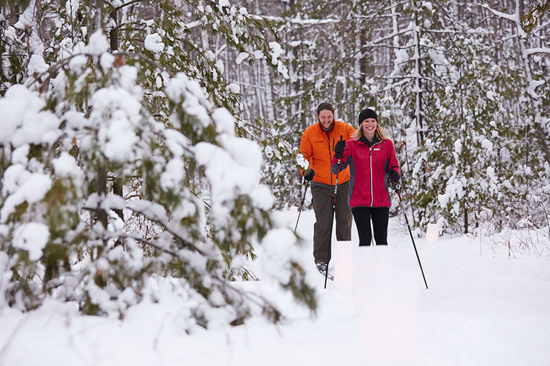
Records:
[[[243,323],[251,304],[278,321],[273,304],[228,278],[267,233],[284,229],[259,183],[261,148],[235,133],[239,95],[214,54],[193,43],[169,1],[157,21],[141,19],[146,35],[122,3],[105,1],[94,14],[84,3],[49,8],[57,21],[42,60],[55,62],[0,99],[0,307],[29,310],[53,296],[86,314],[122,316],[161,275],[180,279],[199,325],[214,309]],[[229,5],[203,12],[205,27],[250,22]],[[86,16],[111,21],[77,30]],[[264,47],[245,28],[238,37],[223,29],[241,47]],[[294,269],[274,279],[313,310],[303,271],[292,253],[281,255]]]

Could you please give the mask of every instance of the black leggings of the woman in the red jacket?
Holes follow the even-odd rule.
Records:
[[[353,207],[351,209],[359,233],[359,245],[371,245],[371,220],[376,245],[388,244],[390,207]]]

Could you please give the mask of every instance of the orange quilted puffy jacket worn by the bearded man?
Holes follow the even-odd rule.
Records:
[[[340,136],[346,141],[354,132],[353,127],[341,121],[334,121],[334,127],[328,133],[321,129],[319,122],[305,129],[300,141],[300,152],[309,161],[309,168],[315,171],[314,182],[336,184],[336,175],[331,173],[334,146],[340,140]],[[338,183],[347,181],[349,168],[342,170],[338,175]]]

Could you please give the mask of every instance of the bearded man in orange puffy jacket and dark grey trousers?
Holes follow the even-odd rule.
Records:
[[[317,107],[318,123],[305,129],[300,141],[300,152],[309,161],[305,179],[311,180],[311,196],[316,222],[314,225],[314,259],[320,273],[325,275],[330,259],[332,233],[332,205],[336,175],[331,172],[334,146],[351,137],[355,129],[349,124],[334,119],[334,107],[321,103]],[[311,176],[311,171],[314,175]],[[308,176],[309,175],[309,176]],[[349,168],[338,175],[336,194],[336,239],[351,240],[351,211],[348,205]]]

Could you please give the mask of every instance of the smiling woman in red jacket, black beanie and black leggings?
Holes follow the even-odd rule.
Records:
[[[399,164],[393,143],[378,124],[372,109],[359,114],[359,128],[348,141],[338,141],[331,170],[349,165],[348,204],[359,233],[359,245],[371,245],[371,220],[377,245],[388,244],[391,198],[388,180],[399,181]]]

